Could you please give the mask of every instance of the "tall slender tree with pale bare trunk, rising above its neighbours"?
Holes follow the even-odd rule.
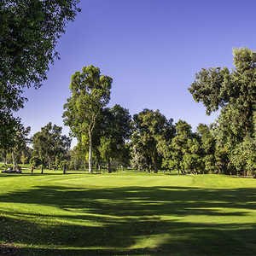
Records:
[[[102,108],[110,100],[112,79],[102,75],[98,67],[83,67],[82,72],[73,74],[70,84],[72,96],[64,105],[64,124],[68,125],[78,141],[89,139],[89,172],[92,172],[92,137]]]

